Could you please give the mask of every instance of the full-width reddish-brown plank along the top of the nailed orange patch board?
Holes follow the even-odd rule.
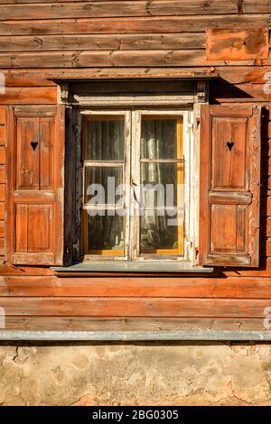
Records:
[[[31,25],[23,20],[10,20],[0,22],[0,35],[202,32],[208,28],[248,28],[255,23],[258,27],[270,26],[269,14],[40,19],[31,21]]]

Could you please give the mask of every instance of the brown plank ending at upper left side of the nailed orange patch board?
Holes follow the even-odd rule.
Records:
[[[0,51],[178,50],[204,49],[205,32],[177,34],[106,34],[2,36]]]

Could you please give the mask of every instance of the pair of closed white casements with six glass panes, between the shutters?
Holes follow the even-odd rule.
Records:
[[[82,114],[83,259],[188,261],[192,113]]]

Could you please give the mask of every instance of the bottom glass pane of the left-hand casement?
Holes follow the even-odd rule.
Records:
[[[117,211],[88,210],[87,253],[123,254],[124,253],[124,218]],[[111,215],[110,215],[111,214]],[[114,215],[113,215],[114,214]]]

